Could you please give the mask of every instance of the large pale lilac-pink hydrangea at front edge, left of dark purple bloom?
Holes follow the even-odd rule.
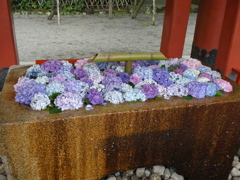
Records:
[[[75,110],[83,106],[82,97],[76,93],[63,92],[54,100],[54,104],[64,110]]]

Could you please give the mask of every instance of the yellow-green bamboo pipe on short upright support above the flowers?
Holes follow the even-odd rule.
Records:
[[[118,62],[126,61],[125,71],[132,72],[132,61],[141,60],[166,60],[167,58],[160,52],[157,53],[106,53],[95,54],[88,62]]]

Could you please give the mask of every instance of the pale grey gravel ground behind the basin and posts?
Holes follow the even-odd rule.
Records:
[[[33,64],[37,59],[78,59],[96,53],[158,52],[164,14],[158,13],[156,25],[150,14],[65,15],[61,25],[57,17],[14,15],[14,26],[20,64]],[[190,56],[196,14],[190,14],[184,56]]]

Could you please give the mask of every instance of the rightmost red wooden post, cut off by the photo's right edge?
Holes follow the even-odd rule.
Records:
[[[225,76],[240,69],[240,1],[227,2],[215,68]]]

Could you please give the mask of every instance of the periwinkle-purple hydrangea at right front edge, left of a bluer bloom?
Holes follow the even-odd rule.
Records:
[[[204,98],[207,93],[207,86],[206,82],[191,81],[187,85],[188,94],[195,98]]]

